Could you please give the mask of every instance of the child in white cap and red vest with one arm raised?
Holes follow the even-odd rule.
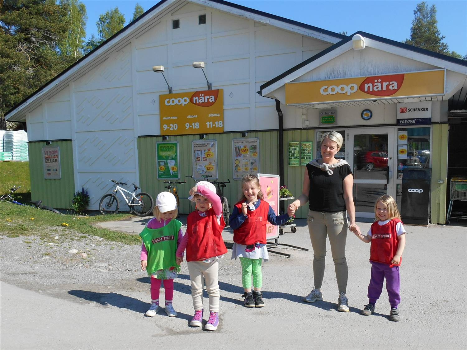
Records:
[[[200,181],[190,190],[190,200],[196,203],[196,210],[187,218],[186,233],[177,249],[177,263],[186,261],[191,280],[191,297],[195,315],[191,326],[199,327],[203,320],[203,280],[209,295],[209,320],[205,329],[216,330],[219,326],[219,282],[218,259],[227,252],[222,239],[225,227],[222,205],[211,182]]]

